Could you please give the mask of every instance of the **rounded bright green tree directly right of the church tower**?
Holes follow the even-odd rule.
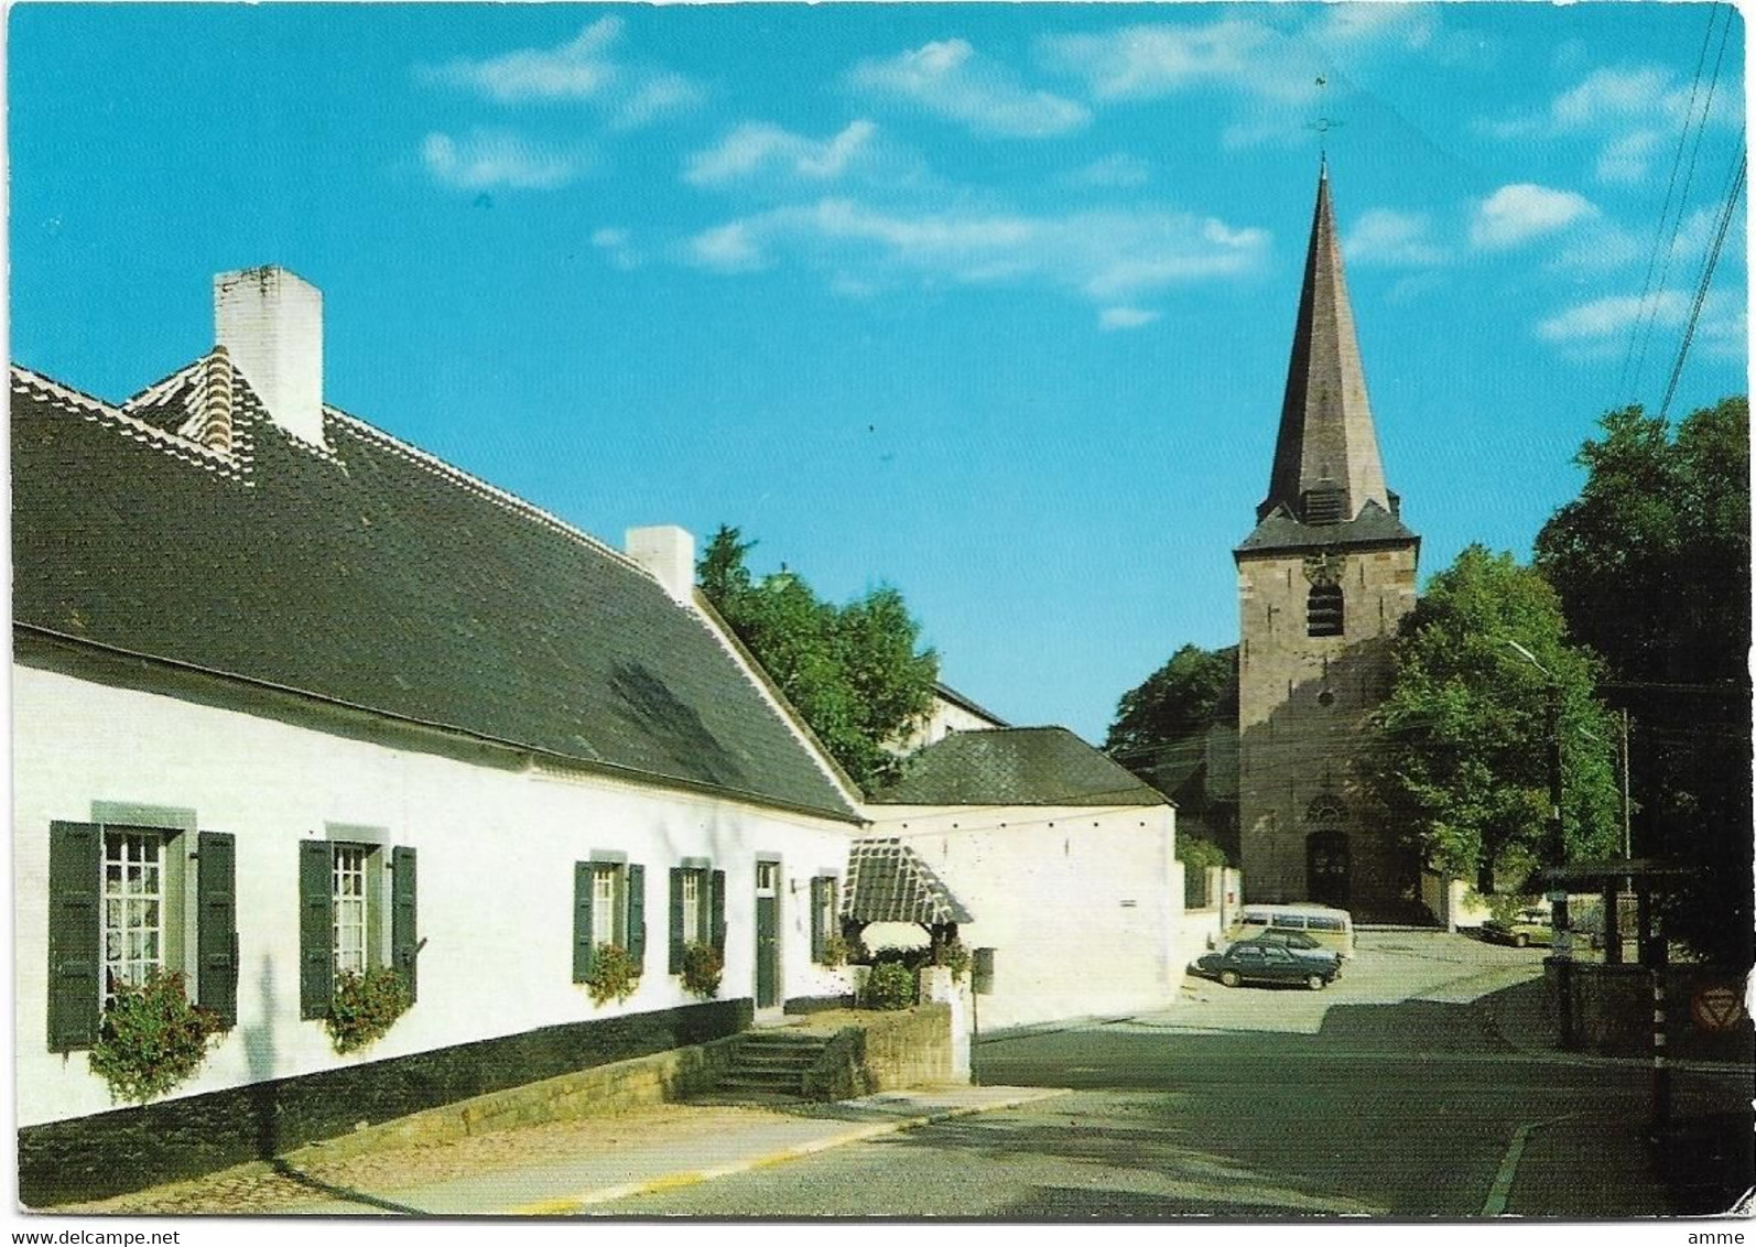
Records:
[[[1596,660],[1563,641],[1554,590],[1512,555],[1470,546],[1403,618],[1368,782],[1445,875],[1521,885],[1551,862],[1547,708],[1559,696],[1570,857],[1617,845],[1612,727]],[[1552,673],[1519,655],[1517,643]]]

